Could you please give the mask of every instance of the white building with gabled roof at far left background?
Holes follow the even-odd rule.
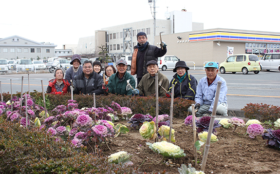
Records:
[[[19,36],[11,36],[0,39],[0,58],[52,58],[55,57],[56,46],[54,43],[39,43]]]

